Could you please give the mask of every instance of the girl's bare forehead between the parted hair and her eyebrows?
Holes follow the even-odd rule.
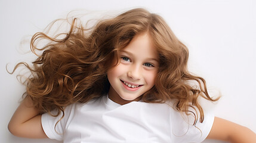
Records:
[[[130,52],[138,56],[144,55],[143,57],[147,58],[158,59],[156,48],[153,45],[152,38],[148,33],[135,35],[131,42],[121,51]]]

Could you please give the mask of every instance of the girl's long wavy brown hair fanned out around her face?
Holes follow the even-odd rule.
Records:
[[[189,73],[187,47],[158,14],[136,8],[100,20],[92,29],[84,28],[77,21],[73,18],[69,32],[61,34],[65,35],[63,39],[51,38],[42,32],[33,35],[30,48],[32,52],[42,51],[42,54],[32,66],[18,63],[14,67],[15,71],[23,65],[31,71],[31,76],[24,82],[24,95],[33,100],[41,113],[57,109],[60,114],[69,104],[106,95],[110,88],[107,71],[114,61],[119,60],[120,49],[125,48],[135,35],[144,32],[149,33],[159,56],[155,86],[141,95],[144,102],[175,101],[176,110],[193,114],[195,125],[198,119],[203,122],[204,117],[199,97],[218,100],[209,97],[202,77]],[[50,42],[38,48],[37,43],[45,39]],[[196,81],[199,88],[189,84],[191,80]]]

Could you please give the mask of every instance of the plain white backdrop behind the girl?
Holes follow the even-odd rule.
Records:
[[[143,7],[162,15],[190,50],[189,69],[221,92],[214,105],[218,117],[256,132],[256,2],[251,0],[172,1],[3,1],[0,0],[0,142],[57,142],[11,135],[7,125],[24,92],[8,74],[20,61],[31,61],[27,39],[72,10],[113,11]],[[217,91],[217,92],[218,92]],[[209,141],[221,142],[221,141]]]

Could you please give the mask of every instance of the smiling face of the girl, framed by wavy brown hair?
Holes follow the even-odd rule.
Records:
[[[158,72],[158,55],[147,33],[136,35],[120,52],[118,66],[107,71],[109,98],[118,104],[140,100],[149,91]]]

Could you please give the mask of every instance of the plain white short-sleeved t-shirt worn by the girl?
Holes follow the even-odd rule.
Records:
[[[43,114],[41,120],[48,138],[63,142],[202,142],[214,121],[213,114],[205,113],[204,122],[195,127],[193,118],[188,123],[189,117],[167,104],[119,105],[107,96],[69,105],[57,123],[61,116]]]

